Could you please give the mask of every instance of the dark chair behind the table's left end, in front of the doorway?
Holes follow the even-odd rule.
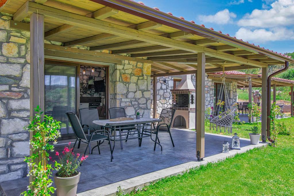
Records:
[[[99,120],[98,110],[95,108],[81,108],[78,110],[80,121],[82,128],[88,128],[84,129],[84,132],[86,132],[87,135],[90,135],[94,132],[93,129],[90,127],[95,128],[96,130],[101,130],[101,126],[93,123],[93,120]],[[81,141],[78,141],[78,148],[80,148]],[[99,142],[99,145],[101,143]]]

